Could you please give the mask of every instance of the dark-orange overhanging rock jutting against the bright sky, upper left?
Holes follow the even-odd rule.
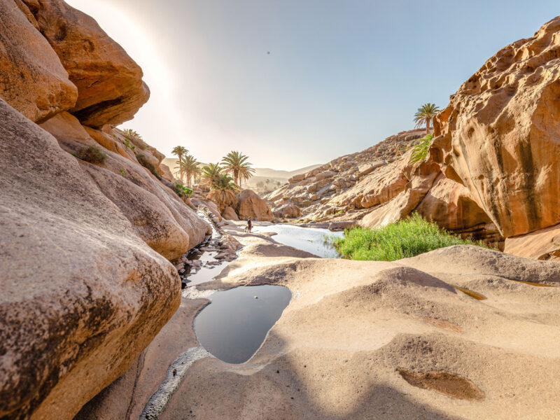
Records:
[[[150,96],[138,64],[93,18],[64,1],[24,1],[78,87],[71,113],[91,127],[132,119]]]

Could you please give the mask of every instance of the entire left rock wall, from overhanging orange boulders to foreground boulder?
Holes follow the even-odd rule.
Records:
[[[0,1],[0,418],[70,419],[179,307],[209,225],[113,125],[140,67],[62,0]]]

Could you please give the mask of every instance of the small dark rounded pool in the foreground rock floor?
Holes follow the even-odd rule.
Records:
[[[224,362],[244,363],[265,341],[291,296],[288,288],[270,285],[216,292],[195,318],[198,341]]]

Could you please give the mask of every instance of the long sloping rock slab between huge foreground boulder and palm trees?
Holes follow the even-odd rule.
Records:
[[[73,155],[79,156],[80,151],[86,148],[100,146],[69,113],[59,113],[41,127]],[[204,240],[210,232],[209,225],[172,189],[138,162],[109,149],[102,148],[100,151],[104,161],[96,165],[107,171],[95,170],[92,165],[83,163],[85,172],[92,176],[97,188],[123,211],[139,237],[149,246],[173,260]]]

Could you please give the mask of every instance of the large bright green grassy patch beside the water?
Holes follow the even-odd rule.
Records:
[[[484,246],[482,241],[461,239],[433,222],[413,214],[382,228],[352,228],[342,238],[330,238],[343,258],[394,261],[451,245]]]

